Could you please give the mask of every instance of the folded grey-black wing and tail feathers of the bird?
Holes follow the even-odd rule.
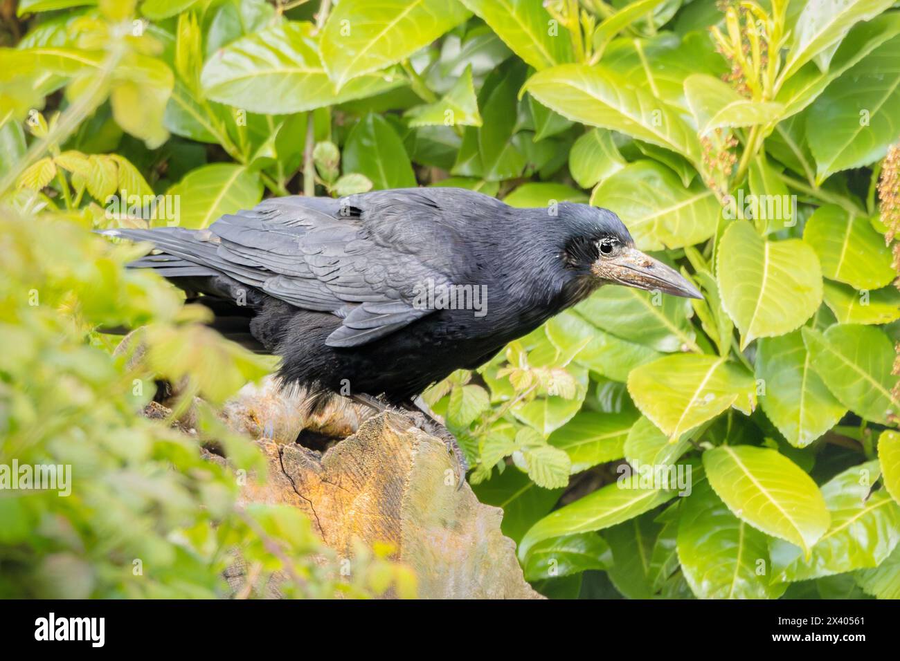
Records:
[[[164,275],[168,270],[173,277],[222,274],[298,308],[338,315],[341,326],[327,344],[357,346],[428,315],[432,309],[415,305],[418,288],[448,282],[440,270],[443,264],[429,261],[428,248],[434,246],[409,236],[400,246],[396,243],[399,228],[407,228],[404,223],[419,216],[419,224],[428,226],[423,214],[433,216],[436,210],[428,205],[417,209],[415,196],[411,202],[376,196],[374,203],[366,203],[365,198],[355,196],[352,204],[273,198],[252,210],[223,216],[208,230],[115,234],[151,241],[166,254],[148,255],[137,266]],[[412,207],[398,215],[403,204]]]

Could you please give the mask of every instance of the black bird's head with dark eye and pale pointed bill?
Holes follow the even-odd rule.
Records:
[[[612,211],[561,202],[558,213],[566,231],[561,255],[565,268],[581,281],[589,281],[592,287],[612,283],[703,298],[679,272],[635,248],[625,223]]]

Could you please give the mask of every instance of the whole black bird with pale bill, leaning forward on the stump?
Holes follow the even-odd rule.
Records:
[[[415,410],[430,384],[606,283],[700,298],[609,210],[514,209],[455,188],[272,198],[207,229],[104,234],[152,243],[130,265],[211,308],[224,335],[279,355],[279,377],[312,408],[349,392]]]

